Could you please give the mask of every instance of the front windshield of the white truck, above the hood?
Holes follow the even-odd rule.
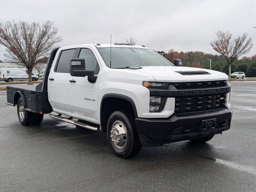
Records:
[[[110,47],[98,48],[106,65],[110,67]],[[111,68],[130,66],[174,66],[157,52],[145,48],[113,47],[111,49]]]

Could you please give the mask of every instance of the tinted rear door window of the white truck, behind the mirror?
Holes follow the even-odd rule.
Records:
[[[70,59],[73,58],[75,49],[64,50],[60,54],[56,72],[69,73],[70,72]]]

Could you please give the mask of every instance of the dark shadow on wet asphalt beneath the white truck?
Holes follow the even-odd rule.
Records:
[[[21,126],[21,125],[20,125]],[[165,144],[160,147],[142,147],[140,153],[130,159],[121,159],[112,153],[108,146],[106,133],[95,132],[84,128],[76,127],[66,122],[59,122],[52,119],[44,119],[40,125],[21,126],[20,134],[40,136],[42,142],[61,142],[68,145],[72,142],[70,148],[78,150],[85,154],[111,158],[119,162],[176,162],[180,160],[189,160],[198,156],[214,160],[216,151],[211,144],[192,144],[189,141]],[[22,136],[22,135],[21,135]],[[210,158],[209,158],[210,156]]]

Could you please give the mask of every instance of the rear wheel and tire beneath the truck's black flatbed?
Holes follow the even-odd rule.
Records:
[[[24,110],[24,101],[20,97],[17,102],[17,113],[22,125],[31,125],[34,120],[34,113]]]

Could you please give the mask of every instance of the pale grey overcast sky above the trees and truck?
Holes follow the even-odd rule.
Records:
[[[224,30],[253,38],[247,56],[256,54],[255,12],[255,0],[0,0],[3,21],[54,21],[59,46],[109,43],[112,34],[112,43],[134,36],[155,50],[216,54],[210,42]]]

